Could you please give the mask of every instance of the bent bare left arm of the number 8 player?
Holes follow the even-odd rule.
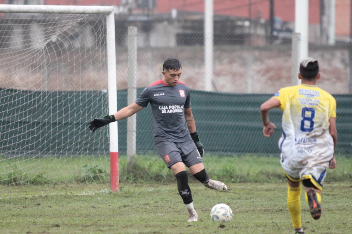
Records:
[[[263,134],[265,137],[270,137],[276,129],[275,124],[269,121],[269,111],[280,106],[280,101],[275,97],[270,98],[260,106],[260,115],[263,121]]]

